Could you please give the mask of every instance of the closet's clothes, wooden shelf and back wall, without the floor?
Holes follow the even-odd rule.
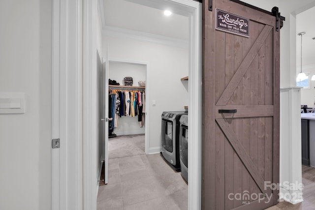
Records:
[[[109,80],[109,137],[145,134],[146,65],[109,61]]]

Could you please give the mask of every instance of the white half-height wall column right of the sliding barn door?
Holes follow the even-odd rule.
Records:
[[[280,103],[280,199],[297,204],[303,201],[301,89],[282,88]]]

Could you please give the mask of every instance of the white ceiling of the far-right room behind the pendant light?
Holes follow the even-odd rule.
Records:
[[[315,7],[296,15],[296,65],[301,65],[301,36],[299,32],[306,32],[302,37],[302,65],[315,64]],[[300,71],[300,68],[297,69]]]

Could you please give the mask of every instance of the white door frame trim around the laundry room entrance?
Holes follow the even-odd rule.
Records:
[[[135,1],[135,0],[130,0]],[[189,210],[201,209],[202,4],[194,0],[137,0],[153,7],[172,3],[189,17]],[[52,210],[96,210],[97,0],[53,0]]]

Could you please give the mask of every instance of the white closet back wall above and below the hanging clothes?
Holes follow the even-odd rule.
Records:
[[[116,80],[120,85],[125,85],[124,77],[132,77],[133,86],[138,86],[138,81],[145,81],[146,76],[146,65],[109,61],[109,79]],[[118,120],[119,126],[114,130],[114,133],[118,136],[145,133],[145,125],[139,126],[138,116],[125,116]]]

